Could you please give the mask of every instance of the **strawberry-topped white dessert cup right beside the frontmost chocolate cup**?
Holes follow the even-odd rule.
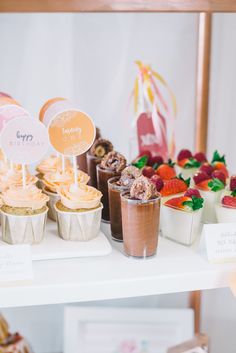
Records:
[[[161,233],[183,245],[192,245],[201,234],[204,200],[196,189],[173,197],[162,205]]]

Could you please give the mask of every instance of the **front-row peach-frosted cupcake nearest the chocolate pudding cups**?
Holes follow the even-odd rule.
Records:
[[[92,186],[64,185],[55,204],[58,234],[64,240],[89,241],[99,234],[102,194]]]

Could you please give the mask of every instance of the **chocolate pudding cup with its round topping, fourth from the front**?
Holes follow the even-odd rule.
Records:
[[[90,151],[87,153],[87,168],[90,176],[89,185],[97,188],[97,172],[96,167],[101,163],[102,158],[113,150],[110,141],[99,138],[97,139]]]

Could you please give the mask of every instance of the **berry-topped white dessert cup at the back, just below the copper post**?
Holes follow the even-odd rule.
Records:
[[[181,173],[184,178],[191,178],[197,173],[199,167],[204,162],[207,162],[204,153],[197,152],[193,155],[189,150],[183,149],[177,156],[177,171]]]

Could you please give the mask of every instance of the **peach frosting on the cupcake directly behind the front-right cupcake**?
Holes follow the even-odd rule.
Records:
[[[88,174],[78,170],[78,183],[87,184],[90,177]],[[58,187],[62,185],[70,185],[74,182],[73,169],[68,169],[65,172],[57,171],[55,173],[48,173],[43,176],[44,185],[52,192],[57,192]]]

